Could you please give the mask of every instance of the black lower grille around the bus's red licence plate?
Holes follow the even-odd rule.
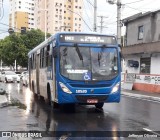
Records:
[[[76,95],[76,98],[78,101],[86,103],[87,99],[97,99],[98,102],[104,102],[108,96],[107,95],[99,95],[99,96],[94,96],[94,95],[88,95],[88,96],[84,96],[84,95]]]

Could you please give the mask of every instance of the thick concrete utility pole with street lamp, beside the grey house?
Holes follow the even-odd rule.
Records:
[[[117,0],[117,3],[114,2],[115,0],[107,0],[109,4],[116,4],[117,5],[117,40],[118,44],[121,44],[121,0]]]

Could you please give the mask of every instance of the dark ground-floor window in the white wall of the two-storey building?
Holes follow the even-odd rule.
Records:
[[[140,58],[140,73],[150,74],[151,58]]]

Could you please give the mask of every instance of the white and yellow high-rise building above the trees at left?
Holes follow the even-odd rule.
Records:
[[[35,28],[34,0],[10,0],[9,26],[15,32]]]

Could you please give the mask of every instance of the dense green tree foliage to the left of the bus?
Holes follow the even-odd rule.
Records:
[[[27,31],[23,35],[13,33],[0,40],[0,59],[8,66],[14,66],[16,60],[17,65],[27,67],[28,52],[43,41],[44,33],[41,30]]]

